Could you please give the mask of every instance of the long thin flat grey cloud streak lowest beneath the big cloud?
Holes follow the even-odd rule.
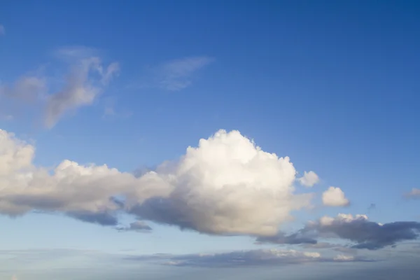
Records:
[[[153,260],[163,265],[188,267],[249,267],[255,265],[288,265],[305,262],[366,261],[363,258],[356,258],[345,255],[325,257],[318,252],[282,250],[277,248],[250,251],[232,251],[227,253],[130,256],[128,259],[139,261]]]

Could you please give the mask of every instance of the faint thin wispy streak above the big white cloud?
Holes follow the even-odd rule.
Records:
[[[148,69],[145,77],[134,87],[155,87],[162,90],[179,91],[193,84],[195,74],[214,62],[207,56],[174,59]]]

